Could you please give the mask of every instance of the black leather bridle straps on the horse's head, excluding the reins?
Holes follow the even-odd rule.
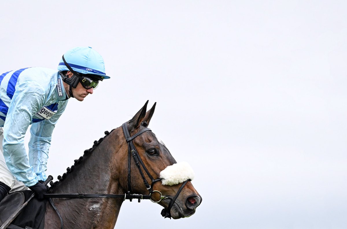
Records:
[[[149,191],[149,195],[151,196],[153,193],[159,193],[160,194],[160,199],[159,201],[153,201],[152,198],[151,198],[151,201],[154,202],[154,203],[159,203],[162,199],[167,199],[167,198],[170,198],[170,197],[167,197],[167,196],[163,196],[161,194],[160,191],[157,191],[157,190],[153,190],[152,187],[153,187],[153,184],[157,181],[161,181],[162,178],[157,178],[157,179],[154,179],[152,177],[152,175],[150,174],[150,172],[147,170],[146,166],[144,165],[143,161],[141,160],[141,157],[140,155],[138,154],[135,146],[134,146],[134,143],[133,143],[133,139],[136,138],[137,136],[139,136],[140,134],[146,132],[146,131],[152,131],[151,129],[149,128],[145,128],[139,132],[137,132],[136,134],[134,134],[133,136],[130,137],[130,134],[129,134],[129,130],[128,130],[128,126],[127,126],[127,123],[123,123],[122,124],[122,129],[123,129],[123,133],[124,133],[124,136],[125,136],[125,139],[128,143],[128,195],[131,195],[132,193],[132,189],[131,189],[131,156],[133,156],[134,158],[134,161],[135,161],[135,165],[137,166],[138,168],[138,171],[140,172],[141,174],[141,177],[143,179],[143,183],[144,185],[146,186],[147,190]],[[141,166],[143,167],[144,171],[147,173],[148,177],[151,179],[151,185],[149,185],[149,183],[147,182],[143,172],[142,172],[142,169],[141,169]],[[180,194],[181,190],[183,189],[183,187],[186,185],[186,183],[190,181],[190,180],[186,180],[185,182],[182,183],[181,187],[178,189],[176,195],[174,198],[170,198],[170,203],[169,203],[169,206],[167,209],[163,209],[161,211],[161,215],[164,216],[164,218],[170,218],[171,219],[171,207],[174,206],[174,203],[178,197],[178,195]],[[131,201],[131,199],[130,199]]]

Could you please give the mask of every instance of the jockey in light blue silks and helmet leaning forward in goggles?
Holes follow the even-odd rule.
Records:
[[[27,188],[43,198],[52,131],[68,99],[83,101],[99,81],[110,78],[91,47],[67,51],[58,70],[30,67],[0,75],[0,201]],[[24,136],[30,124],[27,154]]]

